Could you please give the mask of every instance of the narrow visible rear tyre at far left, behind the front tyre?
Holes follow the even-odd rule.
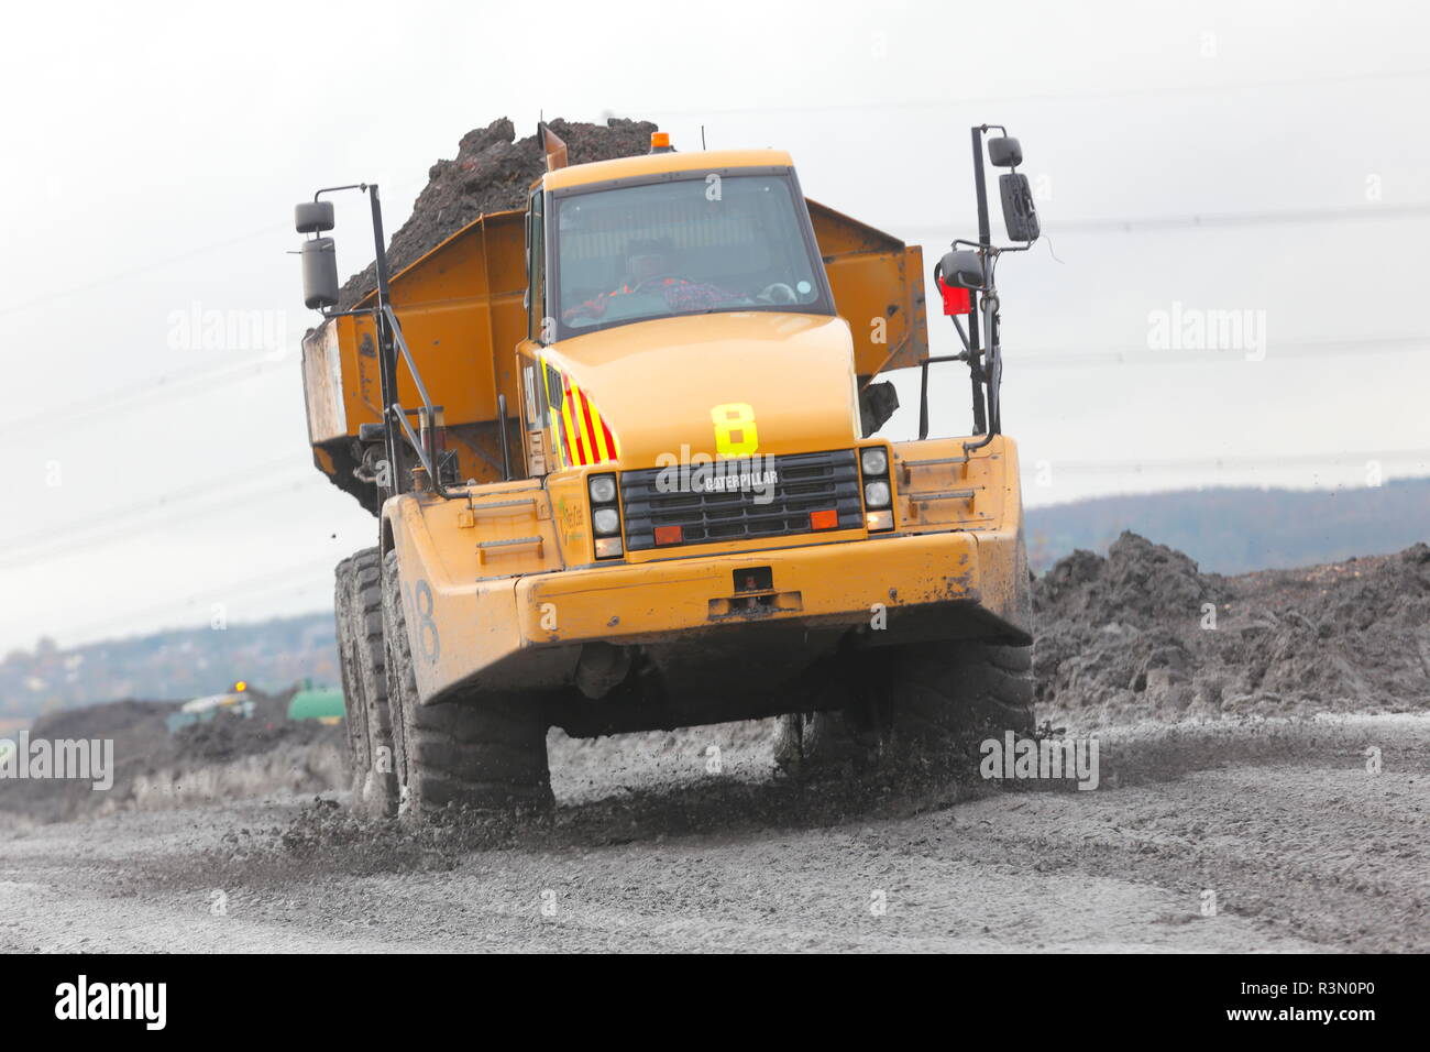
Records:
[[[352,810],[389,817],[398,809],[382,628],[382,564],[365,548],[337,564],[335,620],[347,719]]]

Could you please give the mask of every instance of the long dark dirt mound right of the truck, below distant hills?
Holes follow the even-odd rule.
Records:
[[[1154,716],[1430,708],[1430,548],[1224,578],[1124,532],[1034,587],[1040,711]]]

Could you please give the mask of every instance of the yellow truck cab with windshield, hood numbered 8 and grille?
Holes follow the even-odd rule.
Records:
[[[528,245],[526,467],[622,469],[595,561],[862,524],[851,328],[788,155],[558,169]]]

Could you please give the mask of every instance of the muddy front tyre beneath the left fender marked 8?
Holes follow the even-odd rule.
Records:
[[[419,703],[396,552],[383,560],[383,617],[399,814],[422,820],[446,807],[549,806],[548,723],[536,701],[482,697]]]

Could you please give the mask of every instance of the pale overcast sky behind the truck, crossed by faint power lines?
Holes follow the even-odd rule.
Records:
[[[968,127],[1004,123],[1048,235],[1000,268],[1028,504],[1430,474],[1421,4],[31,4],[7,37],[0,650],[330,604],[376,527],[310,467],[292,206],[380,182],[396,229],[499,116],[788,149],[930,266],[975,233]],[[210,311],[267,339],[186,332]],[[1211,311],[1243,346],[1157,345]]]

